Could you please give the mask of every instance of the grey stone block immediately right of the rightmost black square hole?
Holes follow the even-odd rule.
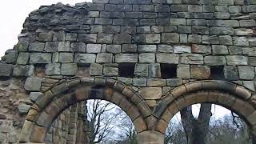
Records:
[[[238,68],[236,66],[224,66],[224,76],[230,81],[238,80]]]

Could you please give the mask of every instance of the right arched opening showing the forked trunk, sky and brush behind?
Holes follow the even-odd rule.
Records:
[[[194,104],[170,120],[165,143],[251,144],[250,132],[250,126],[233,111],[212,103]]]

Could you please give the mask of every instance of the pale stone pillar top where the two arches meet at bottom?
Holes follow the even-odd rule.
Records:
[[[138,134],[139,144],[163,144],[165,135],[154,130],[143,131]]]

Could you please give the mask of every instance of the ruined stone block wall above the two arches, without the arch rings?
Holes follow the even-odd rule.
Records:
[[[192,81],[223,80],[255,91],[255,19],[255,0],[41,6],[0,63],[0,118],[20,122],[43,92],[74,77],[116,78],[152,110],[170,90]],[[58,131],[59,122],[62,115],[50,131]],[[10,131],[0,129],[0,140]]]

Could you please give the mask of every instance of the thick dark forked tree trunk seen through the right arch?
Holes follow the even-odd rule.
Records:
[[[211,117],[211,104],[201,104],[198,119],[192,114],[192,106],[187,106],[181,110],[182,125],[186,133],[188,144],[206,144],[206,134],[209,130]]]

